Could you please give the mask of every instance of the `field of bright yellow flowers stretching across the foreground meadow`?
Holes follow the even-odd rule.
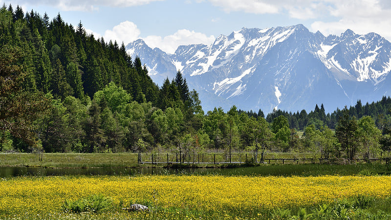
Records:
[[[115,204],[149,202],[201,210],[305,206],[390,196],[391,176],[99,176],[16,177],[0,181],[0,213],[63,212],[65,199],[102,194]]]

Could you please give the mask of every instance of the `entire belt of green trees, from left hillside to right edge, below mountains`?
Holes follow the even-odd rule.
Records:
[[[332,113],[323,104],[309,113],[205,113],[179,71],[156,85],[123,42],[96,39],[60,14],[3,5],[0,44],[0,151],[224,149],[252,151],[256,160],[265,150],[349,159],[390,151],[390,97]]]

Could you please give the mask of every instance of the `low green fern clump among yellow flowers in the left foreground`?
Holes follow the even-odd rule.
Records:
[[[65,212],[99,212],[108,209],[112,204],[110,198],[102,195],[92,195],[75,201],[65,200],[63,209]]]

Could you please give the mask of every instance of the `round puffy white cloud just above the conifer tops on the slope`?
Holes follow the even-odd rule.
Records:
[[[140,33],[135,23],[126,21],[114,26],[112,30],[106,30],[104,38],[106,41],[112,40],[114,42],[116,40],[118,44],[122,42],[128,44],[137,40]]]

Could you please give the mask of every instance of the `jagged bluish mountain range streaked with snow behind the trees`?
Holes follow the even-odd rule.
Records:
[[[204,110],[326,111],[377,101],[391,93],[391,44],[378,34],[310,32],[302,24],[242,28],[211,45],[179,46],[174,54],[142,40],[127,45],[161,85],[180,70]]]

